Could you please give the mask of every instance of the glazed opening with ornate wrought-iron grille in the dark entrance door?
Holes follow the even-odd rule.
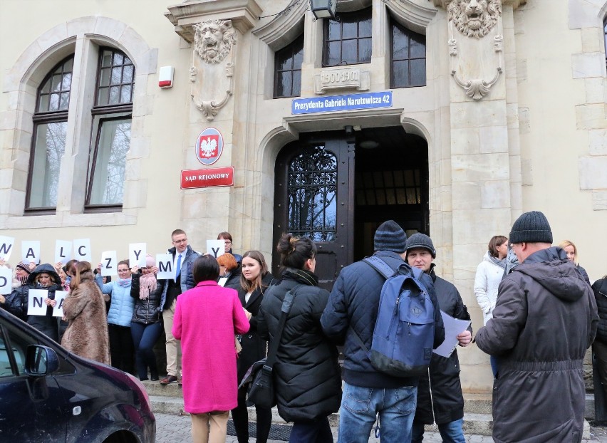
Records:
[[[337,214],[337,159],[311,147],[289,163],[289,232],[333,241]]]

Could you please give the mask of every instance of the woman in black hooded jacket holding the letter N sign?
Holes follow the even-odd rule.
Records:
[[[19,265],[17,265],[19,266]],[[46,315],[44,316],[28,316],[27,323],[45,333],[49,338],[52,338],[57,343],[59,342],[59,327],[58,317],[53,317],[53,308],[57,302],[55,300],[55,291],[61,291],[61,278],[55,271],[55,266],[50,263],[45,263],[36,266],[28,276],[27,286],[19,288],[20,290],[29,293],[30,289],[43,289],[48,291],[48,295],[44,298],[46,304]]]

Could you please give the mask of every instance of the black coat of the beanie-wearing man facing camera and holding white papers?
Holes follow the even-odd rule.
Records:
[[[457,288],[438,277],[433,268],[434,265],[430,270],[430,277],[434,281],[440,310],[453,318],[470,320],[468,309]],[[468,330],[472,333],[472,325]],[[431,399],[430,386],[432,386]],[[420,377],[420,384],[417,385],[415,420],[424,424],[432,424],[435,420],[437,424],[447,424],[462,417],[464,417],[464,396],[460,384],[460,360],[457,358],[457,349],[449,358],[432,353],[430,379],[427,375]]]

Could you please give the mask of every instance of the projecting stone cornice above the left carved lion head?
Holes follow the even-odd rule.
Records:
[[[241,33],[255,26],[261,7],[255,0],[191,0],[168,7],[165,16],[175,26],[175,32],[185,41],[194,41],[192,25],[208,19],[232,20]]]

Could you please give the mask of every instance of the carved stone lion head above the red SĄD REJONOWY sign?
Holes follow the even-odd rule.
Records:
[[[194,52],[206,63],[221,63],[236,44],[232,20],[208,20],[192,27]]]

